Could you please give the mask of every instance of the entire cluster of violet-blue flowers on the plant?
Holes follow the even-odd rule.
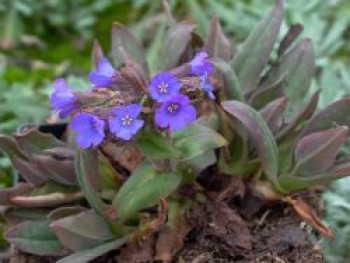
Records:
[[[213,86],[209,76],[214,67],[208,60],[208,54],[199,52],[189,63],[190,76],[200,80],[200,88],[214,99]],[[113,68],[107,58],[102,58],[96,69],[90,72],[90,82],[94,86],[89,92],[108,88],[118,83],[118,71]],[[155,75],[148,84],[148,93],[154,100],[154,120],[158,127],[177,131],[184,129],[196,120],[196,109],[187,95],[181,94],[181,79],[170,72]],[[94,107],[84,108],[78,93],[74,92],[64,79],[57,79],[51,95],[53,109],[60,118],[66,118],[77,112],[71,123],[71,129],[76,132],[76,143],[81,148],[96,147],[101,144],[109,131],[115,138],[131,140],[144,126],[140,119],[142,105],[140,103],[121,103],[108,105],[107,114],[94,110]],[[106,108],[106,107],[105,107]]]

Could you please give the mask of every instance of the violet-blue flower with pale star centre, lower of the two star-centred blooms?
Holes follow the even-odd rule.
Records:
[[[113,108],[109,116],[109,130],[120,139],[130,140],[143,126],[144,121],[138,119],[141,109],[141,105],[136,103]]]

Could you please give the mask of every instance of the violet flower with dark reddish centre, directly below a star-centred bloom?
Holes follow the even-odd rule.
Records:
[[[196,120],[196,109],[188,96],[178,94],[164,102],[155,113],[155,121],[161,128],[182,130]]]

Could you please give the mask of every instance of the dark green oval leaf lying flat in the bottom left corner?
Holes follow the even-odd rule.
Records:
[[[51,231],[48,221],[26,221],[5,234],[8,242],[17,249],[39,256],[59,256],[65,249]]]

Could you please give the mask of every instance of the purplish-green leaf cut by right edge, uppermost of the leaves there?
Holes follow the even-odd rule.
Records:
[[[305,126],[301,136],[320,130],[326,130],[335,125],[350,126],[350,99],[333,102],[322,111],[315,114]]]

